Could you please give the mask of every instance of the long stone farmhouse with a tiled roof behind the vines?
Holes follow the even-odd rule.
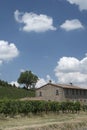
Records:
[[[51,82],[36,90],[36,97],[47,101],[80,101],[87,102],[87,89],[74,86],[72,83],[53,84]]]

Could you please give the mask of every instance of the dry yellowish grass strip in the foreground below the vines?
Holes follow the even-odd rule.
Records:
[[[87,113],[0,116],[0,130],[77,130],[87,127]]]

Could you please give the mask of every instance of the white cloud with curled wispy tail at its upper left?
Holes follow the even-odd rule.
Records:
[[[53,19],[44,14],[35,14],[35,13],[22,13],[16,10],[14,12],[15,20],[18,23],[23,24],[21,30],[26,32],[45,32],[48,30],[56,30],[53,26]]]

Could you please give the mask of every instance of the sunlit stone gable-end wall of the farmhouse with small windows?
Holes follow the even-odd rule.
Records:
[[[36,90],[36,97],[43,100],[61,101],[63,97],[63,89],[50,84]]]

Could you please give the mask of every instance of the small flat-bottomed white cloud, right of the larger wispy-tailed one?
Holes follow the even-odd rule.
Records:
[[[73,20],[66,20],[65,23],[60,25],[60,28],[66,31],[71,31],[76,29],[83,29],[84,27],[78,19],[73,19]]]

